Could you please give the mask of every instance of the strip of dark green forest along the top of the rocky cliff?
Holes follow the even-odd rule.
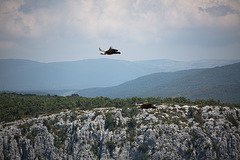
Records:
[[[176,98],[115,98],[110,99],[108,97],[95,97],[86,98],[76,94],[72,96],[40,96],[40,95],[23,95],[16,93],[1,93],[0,94],[0,122],[11,122],[26,117],[38,117],[41,114],[52,114],[60,112],[64,109],[93,109],[100,107],[117,107],[123,108],[123,116],[132,117],[137,114],[137,109],[134,108],[136,103],[153,103],[153,104],[189,104],[189,105],[227,105],[230,107],[240,108],[240,104],[222,104],[219,101],[213,99],[210,100],[195,100],[190,101],[184,97]],[[127,108],[132,108],[128,110]],[[197,117],[195,117],[197,119]],[[73,115],[74,119],[74,115]],[[201,121],[201,120],[200,120]]]

